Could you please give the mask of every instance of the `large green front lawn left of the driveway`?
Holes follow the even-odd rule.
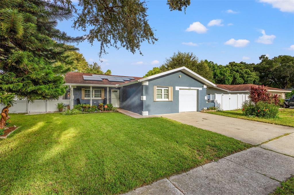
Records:
[[[0,194],[118,194],[250,147],[165,118],[10,115]]]

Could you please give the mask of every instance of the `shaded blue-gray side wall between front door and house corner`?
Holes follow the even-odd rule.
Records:
[[[142,94],[143,85],[141,82],[119,88],[120,108],[141,114],[143,111]]]

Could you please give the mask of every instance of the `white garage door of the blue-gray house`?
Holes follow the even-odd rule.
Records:
[[[179,90],[179,112],[196,111],[197,90],[180,89]]]

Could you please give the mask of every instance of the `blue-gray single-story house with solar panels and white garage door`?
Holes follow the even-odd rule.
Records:
[[[186,67],[146,78],[69,72],[70,106],[98,105],[107,98],[115,107],[142,115],[200,111],[214,106],[207,102],[207,87],[216,85]],[[73,95],[70,95],[73,94]]]

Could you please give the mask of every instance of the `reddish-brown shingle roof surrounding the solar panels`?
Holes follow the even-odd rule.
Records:
[[[121,85],[123,82],[110,82],[107,79],[103,79],[102,81],[85,81],[84,76],[92,76],[90,73],[80,73],[80,72],[68,72],[65,75],[65,83],[68,84],[86,84],[86,85]],[[102,74],[101,74],[102,75]],[[108,75],[108,76],[118,76],[118,75]],[[142,77],[132,76],[135,80],[138,80]],[[131,80],[134,81],[134,80]],[[124,83],[128,83],[130,81],[125,81]]]

